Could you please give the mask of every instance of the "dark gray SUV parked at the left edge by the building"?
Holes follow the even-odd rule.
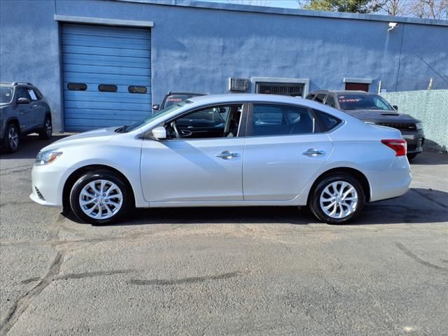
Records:
[[[31,83],[0,83],[0,141],[8,153],[19,149],[21,135],[37,132],[50,139],[50,106]]]

